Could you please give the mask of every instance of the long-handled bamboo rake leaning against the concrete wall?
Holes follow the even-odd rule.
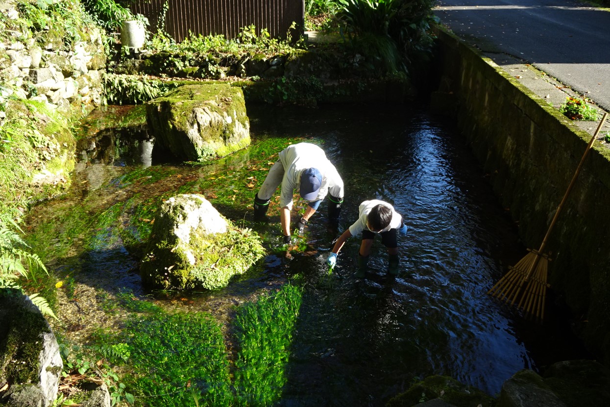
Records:
[[[576,167],[572,181],[570,181],[564,197],[555,211],[553,220],[551,220],[551,224],[548,226],[547,234],[544,236],[544,239],[542,239],[540,248],[538,250],[528,249],[529,253],[515,264],[514,267],[509,267],[509,272],[487,292],[487,294],[493,295],[507,303],[509,302],[511,305],[519,300],[517,308],[522,308],[527,315],[536,315],[536,318],[539,319],[540,322],[544,320],[544,304],[547,298],[547,288],[550,287],[550,284],[547,283],[548,262],[550,261],[550,258],[544,253],[544,249],[547,245],[548,237],[553,230],[553,226],[555,226],[555,223],[557,222],[559,213],[565,204],[567,196],[570,194],[570,191],[576,182],[576,178],[578,178],[578,174],[583,167],[584,159],[593,146],[607,116],[608,113],[604,113],[600,124],[597,126],[597,130],[595,130],[595,134],[584,150],[583,157],[580,159],[580,163],[578,163],[578,167]],[[525,292],[522,293],[524,285]]]

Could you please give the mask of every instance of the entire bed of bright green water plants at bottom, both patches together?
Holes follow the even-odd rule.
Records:
[[[109,300],[131,312],[124,328],[96,331],[89,350],[127,367],[124,392],[134,394],[135,405],[273,405],[286,380],[302,295],[300,286],[285,284],[237,309],[233,368],[212,315],[163,311],[132,292]]]

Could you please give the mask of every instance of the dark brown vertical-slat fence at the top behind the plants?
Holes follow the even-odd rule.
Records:
[[[285,38],[293,22],[304,25],[304,0],[134,0],[129,8],[148,18],[149,31],[162,28],[178,42],[189,33],[235,38],[252,24]]]

